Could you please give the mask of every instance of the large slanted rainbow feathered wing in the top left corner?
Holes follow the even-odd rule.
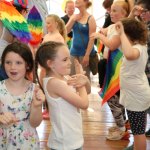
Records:
[[[19,41],[29,42],[31,35],[27,22],[11,3],[0,1],[0,20]]]

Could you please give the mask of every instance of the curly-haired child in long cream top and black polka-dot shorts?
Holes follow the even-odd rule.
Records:
[[[146,110],[150,106],[150,87],[145,74],[147,30],[135,19],[118,22],[116,29],[124,54],[120,71],[120,103],[127,109],[134,149],[146,150]]]

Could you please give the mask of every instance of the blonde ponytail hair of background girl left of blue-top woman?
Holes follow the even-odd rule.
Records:
[[[66,30],[64,21],[59,16],[57,16],[55,14],[50,14],[47,16],[47,18],[50,18],[50,17],[53,18],[54,21],[58,23],[57,29],[59,30],[59,33],[62,35],[62,37],[66,41],[67,30]]]

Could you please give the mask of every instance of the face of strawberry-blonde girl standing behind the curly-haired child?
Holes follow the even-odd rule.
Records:
[[[111,13],[110,13],[111,21],[116,23],[120,21],[122,18],[126,17],[125,10],[121,7],[121,5],[113,4],[111,6]]]

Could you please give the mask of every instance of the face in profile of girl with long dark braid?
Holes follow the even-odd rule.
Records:
[[[59,75],[69,75],[71,70],[70,52],[66,46],[58,49],[56,58],[52,63],[54,71]]]

